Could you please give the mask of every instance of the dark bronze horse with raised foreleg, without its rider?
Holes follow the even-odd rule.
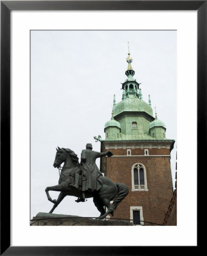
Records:
[[[62,163],[64,163],[64,165],[60,173],[58,185],[47,187],[45,189],[48,200],[54,204],[49,213],[52,213],[53,210],[55,210],[65,196],[75,196],[78,198],[82,196],[81,189],[71,186],[74,183],[74,172],[76,172],[77,169],[80,170],[80,163],[78,162],[77,155],[69,148],[58,147],[56,150],[57,152],[53,166],[55,168],[60,168]],[[100,217],[105,218],[108,214],[113,216],[114,210],[127,196],[129,189],[125,184],[114,183],[106,176],[100,176],[99,179],[102,183],[102,187],[98,191],[85,191],[85,198],[93,197],[93,202],[101,213]],[[60,191],[57,200],[51,199],[49,191]],[[110,205],[111,200],[113,200],[113,204]],[[107,207],[107,212],[105,211],[104,206]]]

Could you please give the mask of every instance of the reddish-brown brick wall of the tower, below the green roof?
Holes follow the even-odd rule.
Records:
[[[144,155],[144,148],[131,148],[131,155],[127,155],[126,148],[107,150],[114,155],[102,162],[102,170],[109,179],[125,183],[129,188],[129,194],[118,205],[113,217],[130,219],[130,207],[142,207],[144,221],[163,224],[173,195],[169,148],[149,148],[148,155]],[[135,163],[142,163],[146,168],[148,191],[132,191],[132,167]]]

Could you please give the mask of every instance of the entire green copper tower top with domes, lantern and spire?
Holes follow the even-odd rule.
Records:
[[[105,123],[105,141],[172,141],[165,138],[165,124],[153,116],[150,95],[148,103],[142,100],[140,83],[133,77],[130,52],[126,60],[127,80],[122,83],[122,101],[116,103],[114,95],[113,113]]]

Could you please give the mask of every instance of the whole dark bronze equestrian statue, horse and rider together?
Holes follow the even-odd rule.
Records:
[[[105,218],[108,214],[113,216],[118,204],[127,196],[129,189],[123,183],[114,183],[106,176],[102,176],[96,165],[96,159],[103,156],[113,156],[111,151],[96,152],[92,150],[92,144],[86,144],[86,149],[81,152],[81,162],[77,155],[69,148],[56,148],[56,156],[53,167],[59,168],[64,163],[60,172],[59,184],[47,187],[47,198],[54,205],[49,213],[60,204],[65,196],[78,197],[76,202],[84,202],[86,198],[93,197],[93,202],[100,211],[100,217]],[[56,199],[52,200],[49,191],[60,191]],[[113,204],[110,205],[110,201]],[[107,212],[104,209],[107,207]]]

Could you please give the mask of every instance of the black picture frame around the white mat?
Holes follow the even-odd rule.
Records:
[[[151,250],[153,253],[159,250],[159,254],[169,252],[169,247],[162,247],[160,252],[159,246],[10,246],[10,12],[12,10],[196,10],[197,163],[202,166],[206,158],[206,149],[201,146],[201,141],[206,144],[207,1],[1,1],[1,255],[148,255]],[[80,234],[77,239],[81,241],[84,236]],[[111,239],[111,234],[108,239]],[[171,253],[174,249],[171,249]],[[198,249],[198,246],[191,247],[192,252],[195,249]]]

